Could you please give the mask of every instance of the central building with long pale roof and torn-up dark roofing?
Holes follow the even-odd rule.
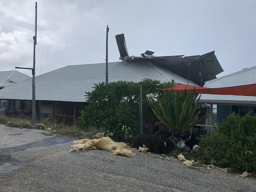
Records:
[[[161,82],[198,86],[216,78],[223,71],[214,52],[204,55],[156,57],[146,51],[141,56],[129,56],[124,35],[116,35],[121,62],[108,63],[109,82],[157,79]],[[57,122],[74,124],[85,105],[85,92],[93,90],[94,83],[105,82],[106,63],[70,65],[36,76],[36,112],[38,117],[49,117]],[[197,82],[197,83],[195,83]],[[0,90],[0,99],[25,101],[24,111],[31,111],[32,79]],[[27,109],[27,103],[30,103]]]

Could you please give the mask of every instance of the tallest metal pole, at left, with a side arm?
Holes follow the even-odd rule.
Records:
[[[37,2],[35,2],[35,36],[33,52],[33,70],[32,70],[32,126],[35,127],[35,45],[37,44]]]

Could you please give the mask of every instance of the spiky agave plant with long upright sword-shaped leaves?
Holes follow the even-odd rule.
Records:
[[[200,114],[200,110],[198,110],[200,96],[197,102],[192,105],[194,94],[195,90],[193,93],[187,93],[186,90],[184,93],[167,90],[163,92],[163,96],[158,102],[154,100],[152,94],[147,95],[154,114],[173,131],[177,138],[210,115],[208,113],[195,120]]]

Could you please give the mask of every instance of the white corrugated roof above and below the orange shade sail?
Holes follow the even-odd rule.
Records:
[[[233,87],[239,85],[249,85],[256,83],[256,66],[247,68],[236,73],[232,73],[217,79],[206,81],[204,87],[219,88]],[[202,103],[233,103],[233,104],[255,104],[254,96],[235,96],[235,95],[211,95],[202,94]]]

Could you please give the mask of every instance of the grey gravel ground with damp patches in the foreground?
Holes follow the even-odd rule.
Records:
[[[69,153],[77,139],[0,125],[0,191],[256,192],[255,178],[188,167],[173,158],[138,152],[128,158],[102,150]]]

